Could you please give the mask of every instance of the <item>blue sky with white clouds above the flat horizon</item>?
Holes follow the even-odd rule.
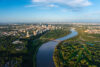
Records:
[[[100,0],[0,0],[4,22],[100,22]]]

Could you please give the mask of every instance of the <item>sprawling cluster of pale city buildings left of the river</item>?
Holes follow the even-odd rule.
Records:
[[[42,34],[49,30],[55,30],[61,27],[57,27],[54,25],[11,25],[7,26],[6,31],[0,31],[0,36],[20,36],[20,37],[30,37],[36,36],[38,34]],[[10,29],[10,30],[7,30]]]

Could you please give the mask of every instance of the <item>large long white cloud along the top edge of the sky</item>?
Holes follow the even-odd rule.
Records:
[[[32,0],[34,3],[57,3],[57,4],[63,4],[66,6],[71,7],[85,7],[89,6],[92,3],[89,0]]]

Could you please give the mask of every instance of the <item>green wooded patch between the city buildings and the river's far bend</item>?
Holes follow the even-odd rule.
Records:
[[[44,34],[40,37],[40,39],[48,39],[48,40],[54,40],[60,37],[64,37],[67,34],[71,33],[69,29],[59,29],[59,30],[51,30],[50,32]]]

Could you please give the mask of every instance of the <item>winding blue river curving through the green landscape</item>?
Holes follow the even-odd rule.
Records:
[[[78,35],[77,31],[71,29],[71,33],[69,35],[44,43],[39,48],[37,53],[37,67],[55,67],[53,62],[53,52],[55,47],[57,44],[59,44],[60,41],[67,40],[76,35]]]

